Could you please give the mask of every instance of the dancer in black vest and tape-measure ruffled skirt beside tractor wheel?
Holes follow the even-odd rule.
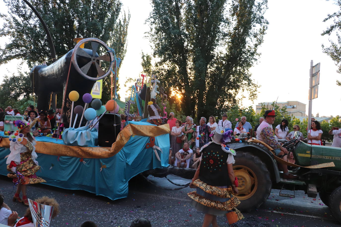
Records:
[[[243,218],[236,209],[240,201],[232,194],[238,193],[238,181],[232,168],[236,152],[224,145],[230,134],[231,131],[221,126],[212,131],[212,142],[201,148],[201,162],[190,184],[191,188],[196,188],[188,193],[193,199],[191,204],[205,214],[203,227],[211,223],[218,226],[217,216],[226,215],[229,224]]]

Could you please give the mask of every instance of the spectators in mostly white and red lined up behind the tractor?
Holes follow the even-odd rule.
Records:
[[[227,119],[227,114],[221,115],[221,119],[217,120],[214,116],[201,117],[198,124],[195,124],[191,116],[181,121],[170,112],[167,123],[170,128],[170,151],[168,162],[171,165],[186,168],[197,168],[199,157],[201,156],[200,148],[210,141],[210,134],[216,127],[222,126],[233,131],[233,135],[240,133],[250,133],[250,136],[257,137],[257,128],[264,121],[264,117],[259,118],[259,124],[252,127],[247,121],[246,116],[242,116],[240,121],[232,124]],[[218,123],[217,123],[218,122]],[[233,127],[234,126],[234,127]],[[274,125],[275,127],[275,125]],[[294,133],[298,131],[298,140],[308,144],[324,145],[321,140],[322,130],[320,122],[311,118],[311,129],[308,131],[308,136],[305,138],[300,131],[299,125],[294,125],[293,128],[288,128],[288,120],[282,119],[281,123],[275,127],[273,134],[279,144],[284,144],[295,139]],[[333,135],[333,147],[341,147],[341,129],[332,127],[328,132]],[[288,155],[291,162],[295,162],[292,154]]]

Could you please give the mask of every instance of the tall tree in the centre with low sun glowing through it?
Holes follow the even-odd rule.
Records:
[[[153,74],[183,97],[186,115],[220,115],[238,92],[256,97],[249,69],[267,29],[267,0],[152,0],[152,7]]]

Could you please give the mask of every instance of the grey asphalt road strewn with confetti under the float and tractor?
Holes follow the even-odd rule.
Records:
[[[176,183],[186,184],[188,180],[169,176]],[[178,186],[170,184],[165,178],[148,179],[156,185],[168,189]],[[44,184],[30,185],[27,189],[29,198],[51,196],[60,204],[60,214],[51,222],[52,227],[80,226],[92,220],[99,227],[128,227],[138,217],[148,218],[153,227],[202,225],[203,215],[190,205],[187,193],[193,189],[184,188],[168,191],[155,187],[141,178],[129,182],[129,196],[112,201],[103,196],[79,191],[65,190]],[[5,176],[0,176],[0,193],[5,196],[8,205],[23,215],[26,207],[12,202],[13,183]],[[308,198],[303,192],[296,192],[296,198],[278,196],[279,190],[272,190],[266,203],[258,210],[243,213],[244,219],[233,227],[322,227],[340,226],[331,216],[329,208],[317,197]],[[323,204],[323,205],[322,205]],[[224,216],[218,217],[219,226],[228,226]]]

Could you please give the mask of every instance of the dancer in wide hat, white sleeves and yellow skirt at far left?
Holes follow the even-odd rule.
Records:
[[[11,172],[7,176],[13,178],[13,182],[18,185],[13,201],[23,202],[25,206],[28,206],[26,185],[46,182],[35,175],[40,166],[35,160],[38,157],[35,153],[36,140],[30,133],[30,127],[33,125],[26,120],[15,121],[18,130],[10,135],[11,153],[6,161],[7,170]],[[23,200],[20,198],[20,192],[23,192]]]

